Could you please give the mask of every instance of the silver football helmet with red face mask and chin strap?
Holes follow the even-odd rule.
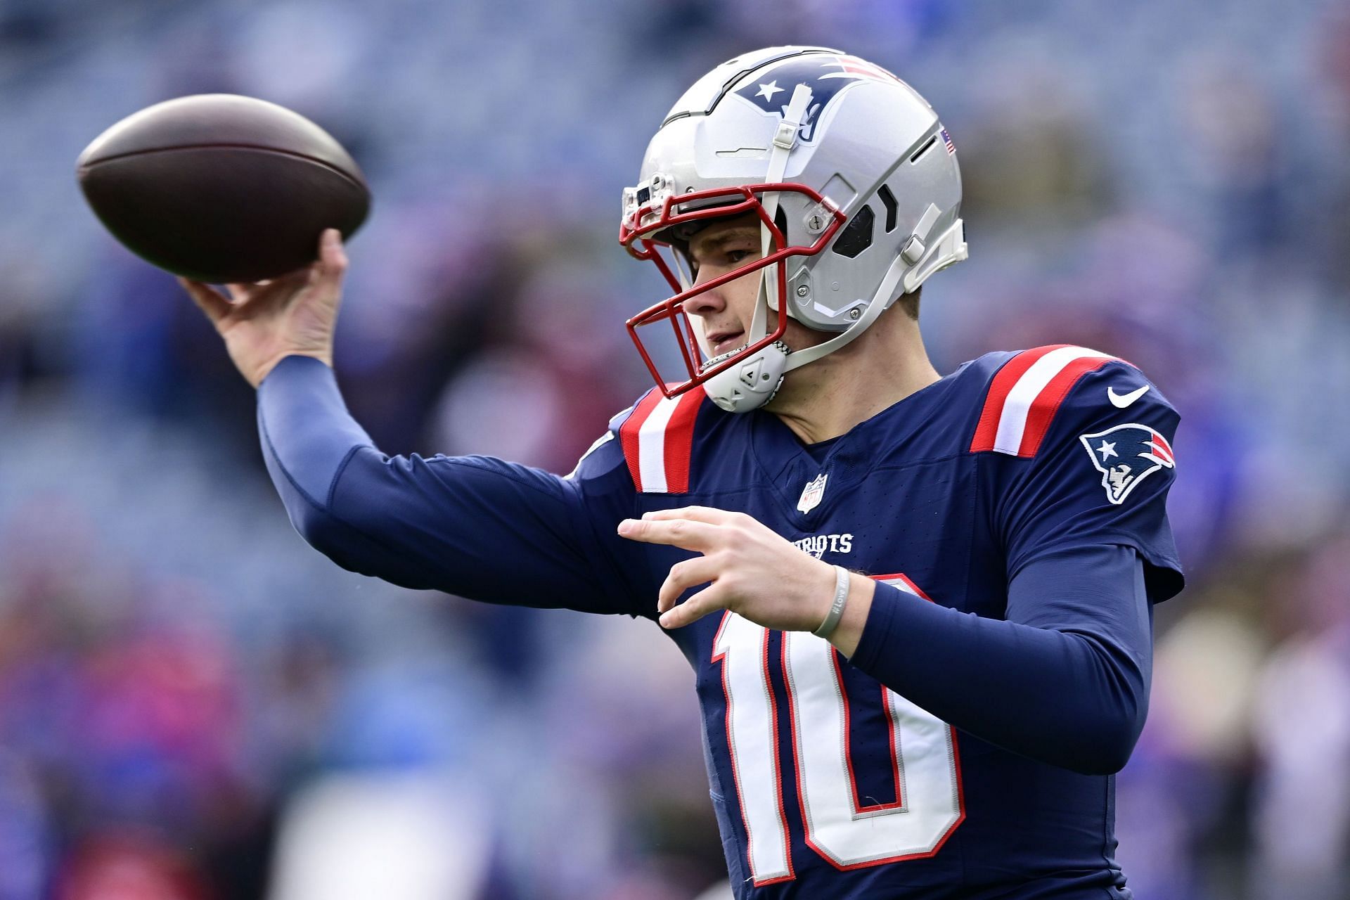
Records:
[[[639,184],[624,190],[620,225],[624,247],[655,260],[675,290],[628,320],[662,391],[702,385],[722,409],[757,409],[787,371],[849,343],[898,297],[965,259],[954,154],[923,97],[838,50],[756,50],[694,82],[652,138]],[[760,219],[763,255],[695,287],[682,236],[748,212]],[[747,344],[707,359],[684,301],[755,270]],[[836,335],[788,351],[788,316]],[[679,341],[686,381],[667,385],[639,335],[662,321]]]

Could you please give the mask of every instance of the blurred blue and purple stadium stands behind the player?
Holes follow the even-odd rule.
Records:
[[[188,93],[321,123],[375,192],[338,345],[358,418],[568,471],[647,386],[622,320],[663,287],[617,246],[621,188],[694,77],[788,42],[895,70],[956,140],[938,368],[1083,343],[1183,410],[1189,588],[1118,781],[1137,896],[1350,896],[1343,3],[0,0],[0,900],[725,878],[675,648],[309,551],[251,391],[73,162]]]

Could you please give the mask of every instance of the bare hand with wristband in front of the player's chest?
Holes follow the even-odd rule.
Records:
[[[732,610],[764,627],[814,631],[834,600],[833,565],[745,513],[707,506],[659,510],[624,519],[618,533],[702,553],[672,565],[662,584],[656,609],[667,629]],[[707,582],[711,584],[675,604],[686,590]]]

